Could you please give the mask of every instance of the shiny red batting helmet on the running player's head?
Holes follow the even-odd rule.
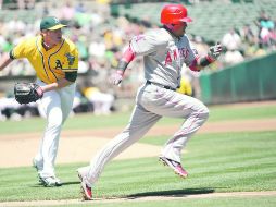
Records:
[[[177,24],[180,22],[191,22],[187,16],[187,9],[181,4],[167,4],[161,11],[162,24]]]

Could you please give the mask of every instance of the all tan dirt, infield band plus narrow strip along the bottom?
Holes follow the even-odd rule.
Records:
[[[260,104],[258,104],[260,106]],[[267,104],[262,104],[267,105]],[[276,105],[275,102],[273,105]],[[252,105],[244,105],[253,107]],[[244,107],[243,105],[231,105],[231,107]],[[153,126],[147,136],[167,135],[171,136],[179,125]],[[275,131],[276,118],[260,120],[239,120],[223,122],[206,122],[198,133],[216,133],[216,132],[261,132]],[[110,138],[113,138],[122,131],[121,127],[104,130],[74,130],[62,132],[58,163],[67,162],[89,162],[95,153],[98,151]],[[0,137],[0,168],[30,166],[32,158],[36,154],[40,142],[41,133],[24,133],[20,135],[4,135]],[[136,143],[126,151],[121,154],[116,159],[129,159],[137,157],[158,156],[161,147]],[[11,156],[16,155],[16,156]],[[9,159],[8,159],[9,158]],[[176,199],[200,199],[200,198],[219,198],[219,197],[255,197],[255,196],[276,196],[276,191],[268,192],[233,192],[233,193],[208,193],[208,194],[177,194],[160,196],[130,196],[114,198],[96,198],[91,202],[81,202],[80,199],[64,200],[32,200],[32,202],[4,202],[0,206],[60,206],[60,205],[80,205],[80,204],[114,204],[114,203],[135,203],[151,200],[176,200]]]

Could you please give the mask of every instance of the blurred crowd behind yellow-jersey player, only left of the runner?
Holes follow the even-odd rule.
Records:
[[[146,31],[148,25],[134,24],[125,17],[110,16],[108,4],[95,3],[89,10],[81,2],[72,4],[67,1],[63,7],[45,3],[41,15],[34,23],[14,16],[11,21],[0,21],[0,56],[9,52],[13,46],[23,39],[39,34],[39,23],[42,16],[54,15],[66,24],[64,36],[73,40],[79,50],[79,76],[85,75],[85,82],[78,83],[72,113],[91,111],[95,114],[109,114],[114,110],[117,92],[122,97],[133,96],[142,82],[141,59],[129,65],[124,84],[120,89],[113,89],[108,84],[112,69],[117,65],[123,46],[130,37]],[[131,68],[135,68],[130,72]],[[35,71],[26,60],[16,60],[0,72],[0,76],[35,75]],[[84,78],[83,78],[84,80]],[[133,92],[133,94],[131,94]],[[25,117],[39,114],[37,110],[29,112],[27,106],[17,105],[12,94],[0,99],[0,120],[21,120]],[[41,115],[41,114],[40,114]]]

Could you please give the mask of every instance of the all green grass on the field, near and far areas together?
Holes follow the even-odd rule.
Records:
[[[276,115],[276,106],[210,107],[209,122],[246,119],[269,119]],[[81,114],[70,118],[64,130],[124,127],[130,112],[114,113],[110,117]],[[180,123],[181,120],[165,118],[158,124]],[[22,122],[0,123],[0,135],[42,131],[45,120],[27,119]],[[12,130],[11,130],[12,129]],[[160,148],[167,136],[148,136],[140,142],[158,145]],[[147,207],[147,206],[276,206],[273,196],[177,199],[183,194],[209,194],[213,192],[276,191],[276,131],[196,134],[189,141],[183,163],[190,173],[181,180],[158,158],[141,158],[112,161],[106,166],[95,186],[96,197],[127,196],[175,196],[170,202],[122,202],[102,203],[97,206]],[[16,156],[16,155],[12,155]],[[58,165],[57,174],[64,185],[48,188],[38,184],[37,173],[32,167],[0,169],[0,202],[77,199],[79,180],[76,169],[89,163]],[[1,205],[1,204],[0,204]],[[91,206],[93,204],[81,204]],[[63,206],[76,206],[63,205]]]

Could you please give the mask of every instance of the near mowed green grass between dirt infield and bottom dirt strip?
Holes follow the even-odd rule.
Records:
[[[95,194],[97,197],[125,197],[275,191],[275,137],[276,132],[198,135],[189,142],[188,153],[184,154],[183,163],[190,173],[186,180],[179,179],[168,168],[160,165],[156,158],[112,161],[96,185]],[[146,137],[141,142],[161,146],[165,139],[156,136]],[[75,170],[87,163],[58,166],[58,175],[65,184],[54,188],[39,185],[36,172],[30,167],[0,169],[0,200],[79,198],[79,181]],[[233,199],[238,203],[241,198]],[[259,204],[265,202],[255,199]],[[214,199],[208,200],[206,205],[211,206]],[[246,199],[242,200],[246,203]],[[269,200],[275,204],[275,198]],[[187,205],[191,203],[186,202]],[[217,199],[217,205],[221,199]],[[143,204],[141,202],[137,206]],[[204,204],[204,200],[199,202],[201,206]]]

